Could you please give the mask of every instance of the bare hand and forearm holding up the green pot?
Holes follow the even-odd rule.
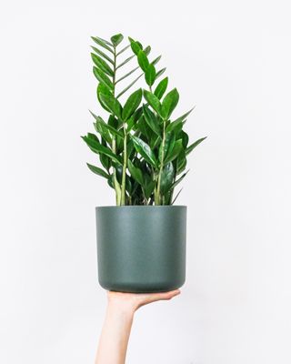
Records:
[[[162,293],[107,292],[105,323],[99,339],[95,364],[125,364],[135,311],[148,303],[168,300],[179,294],[179,289]]]

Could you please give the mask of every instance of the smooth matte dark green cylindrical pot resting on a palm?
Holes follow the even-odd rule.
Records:
[[[186,277],[186,207],[96,207],[100,285],[162,292]]]

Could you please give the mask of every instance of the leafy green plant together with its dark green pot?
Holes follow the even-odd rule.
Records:
[[[101,167],[87,164],[115,191],[114,207],[96,207],[98,278],[103,288],[125,292],[166,291],[186,277],[186,207],[173,206],[186,177],[189,144],[186,117],[173,117],[179,100],[167,92],[161,56],[124,36],[92,37],[96,95],[107,116],[96,116],[95,133],[82,136]],[[130,55],[125,56],[130,52]],[[131,69],[123,69],[134,64]],[[145,77],[145,88],[132,92]],[[128,96],[129,95],[129,96]],[[123,99],[123,101],[121,101]]]

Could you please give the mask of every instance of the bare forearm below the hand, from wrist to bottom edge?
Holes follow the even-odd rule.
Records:
[[[134,311],[109,302],[95,364],[124,364]]]

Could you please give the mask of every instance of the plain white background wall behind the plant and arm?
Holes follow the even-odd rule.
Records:
[[[208,136],[190,157],[187,280],[135,317],[129,364],[289,364],[290,8],[284,1],[6,1],[0,11],[0,362],[93,363],[105,312],[80,139],[98,111],[90,35],[163,55]]]

